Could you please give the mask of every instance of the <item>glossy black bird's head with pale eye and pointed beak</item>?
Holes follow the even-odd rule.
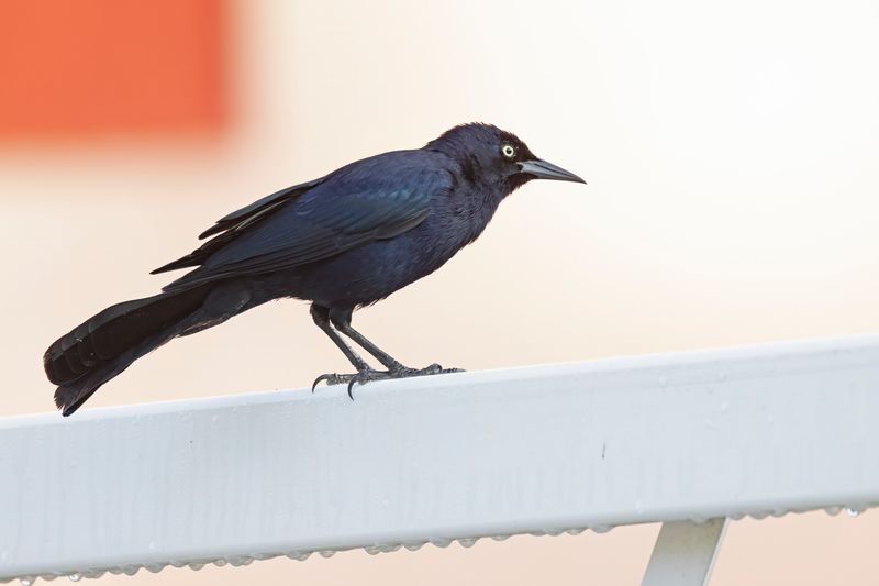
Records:
[[[425,148],[441,151],[456,159],[470,181],[502,185],[504,195],[532,179],[586,183],[535,156],[515,134],[491,124],[455,126],[427,143]]]

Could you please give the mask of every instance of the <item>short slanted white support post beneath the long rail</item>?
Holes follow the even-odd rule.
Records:
[[[708,584],[725,530],[726,519],[663,523],[642,586]]]

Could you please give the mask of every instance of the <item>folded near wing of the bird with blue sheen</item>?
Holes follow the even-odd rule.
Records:
[[[259,221],[238,229],[227,242],[223,239],[230,232],[207,242],[202,248],[220,241],[201,267],[165,290],[292,268],[419,225],[430,213],[431,198],[450,188],[450,176],[382,156],[344,167],[292,200],[269,203]]]

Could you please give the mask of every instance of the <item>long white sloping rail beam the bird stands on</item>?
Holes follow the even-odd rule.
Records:
[[[372,383],[355,399],[0,419],[0,579],[879,504],[879,336]]]

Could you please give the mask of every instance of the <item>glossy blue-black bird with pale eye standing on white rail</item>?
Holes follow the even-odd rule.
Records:
[[[198,267],[145,299],[109,307],[43,356],[55,403],[76,411],[101,385],[178,335],[281,297],[311,301],[314,323],[356,368],[314,385],[429,375],[351,325],[352,312],[430,275],[476,240],[498,204],[531,179],[586,183],[489,124],[456,126],[424,147],[357,161],[225,215],[198,250],[153,273]],[[340,335],[387,371],[374,371]],[[313,387],[312,387],[313,388]]]

